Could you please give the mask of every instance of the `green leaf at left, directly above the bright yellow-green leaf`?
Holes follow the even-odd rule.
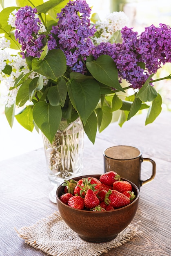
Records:
[[[27,79],[18,89],[16,105],[22,107],[29,100],[29,84],[31,79]]]

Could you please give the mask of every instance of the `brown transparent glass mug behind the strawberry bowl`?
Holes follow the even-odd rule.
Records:
[[[155,177],[156,164],[150,158],[143,158],[140,149],[132,146],[113,146],[104,150],[104,172],[115,171],[122,178],[130,180],[138,189],[151,182]],[[141,164],[149,161],[152,174],[147,180],[141,180]]]

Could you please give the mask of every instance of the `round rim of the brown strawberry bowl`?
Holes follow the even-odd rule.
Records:
[[[97,176],[98,176],[98,175],[102,175],[102,174],[82,175],[82,176],[78,176],[78,177],[73,177],[72,180],[78,179],[78,178],[81,179],[81,178],[83,178],[83,177],[94,177],[94,175],[97,175]],[[129,208],[130,205],[133,205],[137,200],[139,200],[140,191],[139,191],[138,187],[137,187],[133,182],[131,182],[130,180],[127,180],[127,179],[122,178],[122,177],[120,177],[120,178],[123,179],[123,180],[126,180],[126,181],[130,182],[130,184],[135,187],[135,189],[137,190],[137,191],[136,191],[136,192],[137,192],[137,196],[136,196],[135,200],[133,200],[133,202],[131,202],[130,204],[128,204],[128,205],[126,205],[126,206],[124,206],[124,207],[120,207],[120,208],[118,208],[118,209],[114,209],[114,210],[110,210],[110,211],[89,211],[89,210],[80,210],[80,209],[72,208],[72,207],[70,207],[69,205],[64,204],[64,203],[60,200],[60,198],[59,198],[59,196],[58,196],[58,190],[62,187],[62,184],[63,184],[64,182],[62,182],[62,184],[60,184],[60,185],[58,186],[57,190],[56,190],[56,199],[57,199],[61,204],[63,204],[65,207],[67,207],[67,208],[69,208],[69,209],[73,209],[74,211],[76,210],[76,211],[84,212],[84,213],[86,213],[86,212],[87,212],[87,213],[93,212],[93,213],[104,213],[104,214],[107,214],[108,212],[121,211],[122,209]],[[71,180],[71,178],[66,179],[66,180]]]

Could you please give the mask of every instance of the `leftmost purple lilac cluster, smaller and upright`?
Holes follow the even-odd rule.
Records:
[[[21,7],[16,13],[16,40],[22,45],[22,51],[26,50],[26,56],[40,57],[40,49],[43,47],[42,39],[45,35],[38,35],[41,20],[35,18],[36,8],[30,6]],[[21,53],[24,58],[24,52]]]

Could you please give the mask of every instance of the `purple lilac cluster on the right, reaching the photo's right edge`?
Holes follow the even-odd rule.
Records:
[[[95,59],[102,54],[113,58],[120,82],[125,79],[132,88],[141,88],[161,64],[171,62],[171,28],[151,25],[138,36],[131,28],[122,28],[122,44],[101,43],[95,46]],[[140,63],[144,63],[143,69]]]

